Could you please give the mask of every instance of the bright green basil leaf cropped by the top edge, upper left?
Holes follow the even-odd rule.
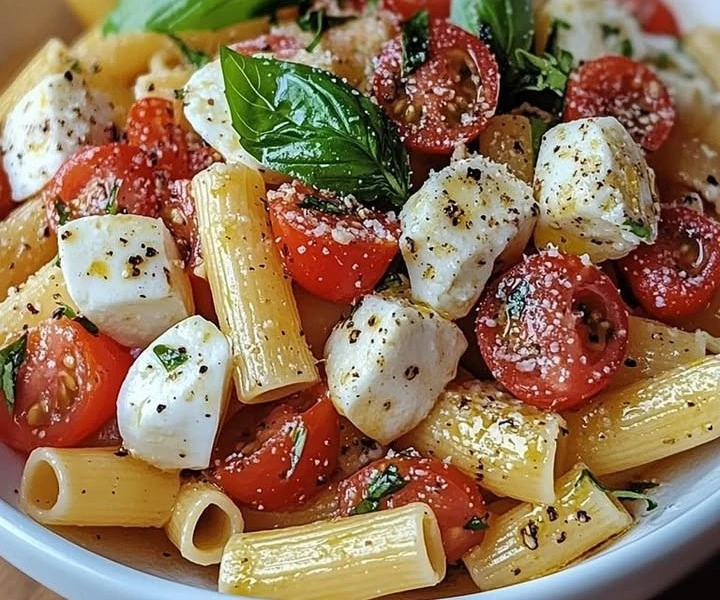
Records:
[[[294,0],[120,0],[103,33],[126,31],[198,31],[222,29],[255,17],[272,15]]]

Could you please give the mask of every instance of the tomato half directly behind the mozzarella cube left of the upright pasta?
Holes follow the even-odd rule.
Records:
[[[45,189],[44,199],[50,224],[57,229],[58,211],[65,219],[113,210],[157,217],[165,193],[145,152],[127,144],[107,144],[83,148],[70,157]]]

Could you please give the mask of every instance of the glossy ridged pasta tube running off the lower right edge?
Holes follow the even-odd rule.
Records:
[[[568,457],[604,475],[720,437],[720,357],[605,392],[566,415]]]

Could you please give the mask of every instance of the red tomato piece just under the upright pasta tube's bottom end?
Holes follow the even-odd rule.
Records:
[[[237,502],[259,510],[302,504],[337,467],[338,414],[324,386],[308,395],[317,401],[305,412],[291,404],[273,409],[254,442],[225,428],[211,477]]]

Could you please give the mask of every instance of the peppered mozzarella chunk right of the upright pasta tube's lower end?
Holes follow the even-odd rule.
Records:
[[[428,415],[466,348],[460,329],[436,312],[402,297],[365,296],[325,347],[330,398],[387,444]]]

